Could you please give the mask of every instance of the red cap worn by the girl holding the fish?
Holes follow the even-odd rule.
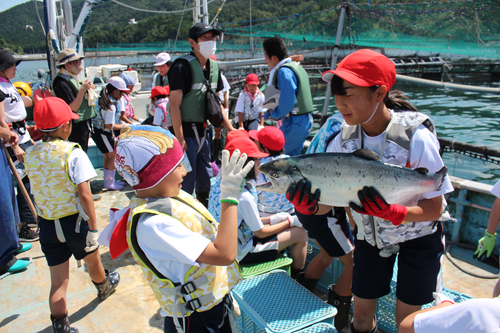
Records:
[[[391,90],[396,82],[396,66],[385,55],[362,49],[345,57],[336,69],[324,72],[321,78],[332,82],[334,75],[360,87],[385,85]]]

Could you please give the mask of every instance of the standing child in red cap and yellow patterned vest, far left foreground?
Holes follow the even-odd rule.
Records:
[[[55,333],[78,332],[68,320],[66,291],[69,259],[83,259],[98,291],[106,299],[120,275],[102,267],[97,243],[94,200],[89,181],[96,175],[87,154],[77,143],[68,142],[72,120],[78,115],[64,100],[48,97],[33,112],[43,142],[27,149],[25,166],[39,210],[40,244],[50,268],[49,306]]]

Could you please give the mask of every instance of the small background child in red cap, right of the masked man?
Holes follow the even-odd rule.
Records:
[[[235,127],[242,130],[257,130],[264,127],[264,94],[259,90],[257,74],[248,74],[245,90],[240,92],[234,113],[236,114]]]

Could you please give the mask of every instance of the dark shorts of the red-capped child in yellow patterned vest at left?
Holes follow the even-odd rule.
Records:
[[[80,224],[80,232],[75,231],[76,221],[79,214],[70,215],[59,219],[61,227],[66,238],[66,242],[62,243],[56,234],[56,227],[54,220],[46,220],[42,217],[38,218],[38,225],[40,226],[40,245],[42,251],[47,259],[49,266],[57,266],[66,262],[73,255],[76,260],[81,260],[87,255],[97,251],[95,249],[91,252],[86,252],[87,246],[87,233],[89,225],[87,221],[83,220]]]

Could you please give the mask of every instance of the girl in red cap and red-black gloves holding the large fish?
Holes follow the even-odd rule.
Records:
[[[444,166],[432,121],[400,91],[390,92],[396,68],[387,57],[358,50],[322,78],[331,82],[335,104],[344,118],[341,132],[328,144],[327,152],[370,149],[385,163],[426,168],[430,173]],[[374,156],[367,153],[366,158]],[[451,191],[446,176],[439,190],[418,195],[418,203],[406,207],[388,204],[375,187],[365,186],[358,192],[360,204],[349,204],[361,214],[354,251],[351,332],[378,332],[377,301],[390,292],[397,253],[396,326],[433,300],[432,293],[441,288],[443,195]],[[287,197],[305,214],[322,215],[331,210],[318,204],[320,191],[311,193],[306,180],[290,186]]]

